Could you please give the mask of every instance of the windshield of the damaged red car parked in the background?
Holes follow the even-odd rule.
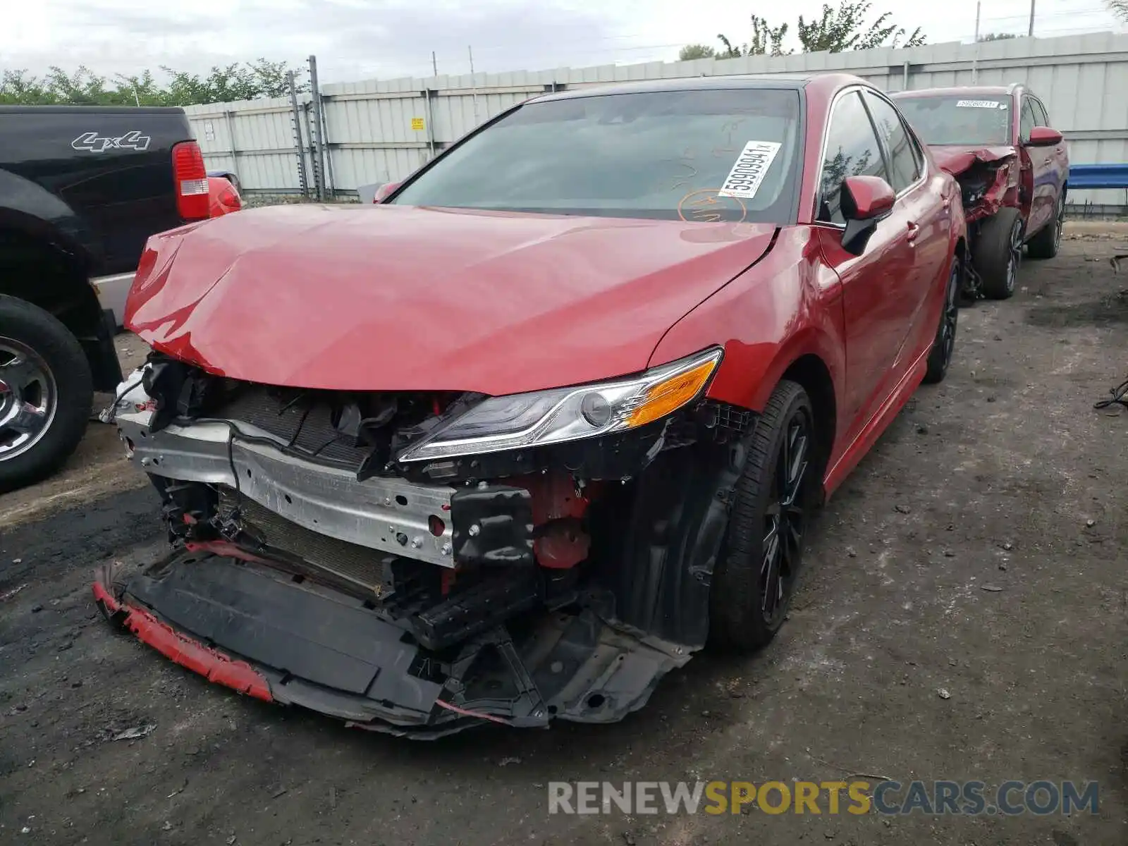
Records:
[[[897,107],[926,144],[1011,143],[1007,96],[898,97]]]

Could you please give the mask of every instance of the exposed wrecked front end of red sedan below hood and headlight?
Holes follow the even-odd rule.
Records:
[[[606,439],[365,475],[379,439],[319,429],[354,398],[302,407],[227,386],[162,422],[162,400],[130,381],[114,416],[173,550],[129,575],[99,571],[95,598],[212,681],[434,738],[615,722],[705,644],[751,413],[702,404]],[[197,388],[211,389],[176,394]]]

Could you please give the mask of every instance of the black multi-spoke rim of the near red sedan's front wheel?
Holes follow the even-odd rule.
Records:
[[[764,515],[760,548],[760,613],[775,625],[786,607],[799,570],[799,556],[807,528],[807,477],[810,467],[811,423],[799,408],[784,426]]]

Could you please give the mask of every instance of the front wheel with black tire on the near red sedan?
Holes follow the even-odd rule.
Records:
[[[710,591],[710,635],[737,650],[767,644],[783,624],[819,479],[814,416],[784,380],[756,421]]]

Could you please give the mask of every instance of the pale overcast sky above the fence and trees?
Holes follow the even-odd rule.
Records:
[[[837,0],[830,0],[837,6]],[[5,0],[0,68],[43,72],[85,64],[111,76],[170,65],[205,71],[257,56],[300,64],[317,55],[323,82],[440,73],[540,70],[673,60],[717,33],[748,39],[755,10],[773,24],[821,0]],[[874,0],[931,43],[971,41],[976,0]],[[774,11],[786,8],[787,17]],[[1029,0],[982,0],[981,32],[1025,35]],[[1037,0],[1034,34],[1122,30],[1102,0]],[[797,46],[793,44],[793,46]]]

